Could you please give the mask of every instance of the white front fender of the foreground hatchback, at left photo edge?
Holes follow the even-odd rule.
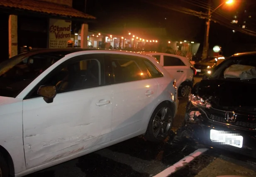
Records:
[[[15,171],[25,170],[22,99],[0,97],[0,145],[14,158]]]

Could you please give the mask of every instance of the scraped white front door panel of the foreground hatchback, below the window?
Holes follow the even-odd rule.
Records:
[[[97,106],[101,99],[112,102],[111,86],[57,94],[50,104],[41,97],[24,100],[27,168],[110,141],[112,104]],[[102,135],[106,139],[97,141]]]

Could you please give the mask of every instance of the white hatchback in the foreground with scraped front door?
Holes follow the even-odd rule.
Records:
[[[161,142],[178,99],[154,57],[47,49],[0,64],[0,176],[20,177],[144,135]]]

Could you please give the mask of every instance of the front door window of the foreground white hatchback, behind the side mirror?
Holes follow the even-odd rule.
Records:
[[[75,90],[98,87],[102,85],[102,65],[98,54],[88,54],[75,57],[57,67],[41,85],[55,85],[57,94]],[[37,89],[30,97],[37,97]]]

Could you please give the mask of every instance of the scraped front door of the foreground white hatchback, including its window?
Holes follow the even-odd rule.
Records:
[[[110,142],[112,91],[102,79],[103,71],[102,54],[74,57],[51,71],[24,99],[27,169],[69,160]],[[38,96],[41,85],[57,86],[53,100]]]

